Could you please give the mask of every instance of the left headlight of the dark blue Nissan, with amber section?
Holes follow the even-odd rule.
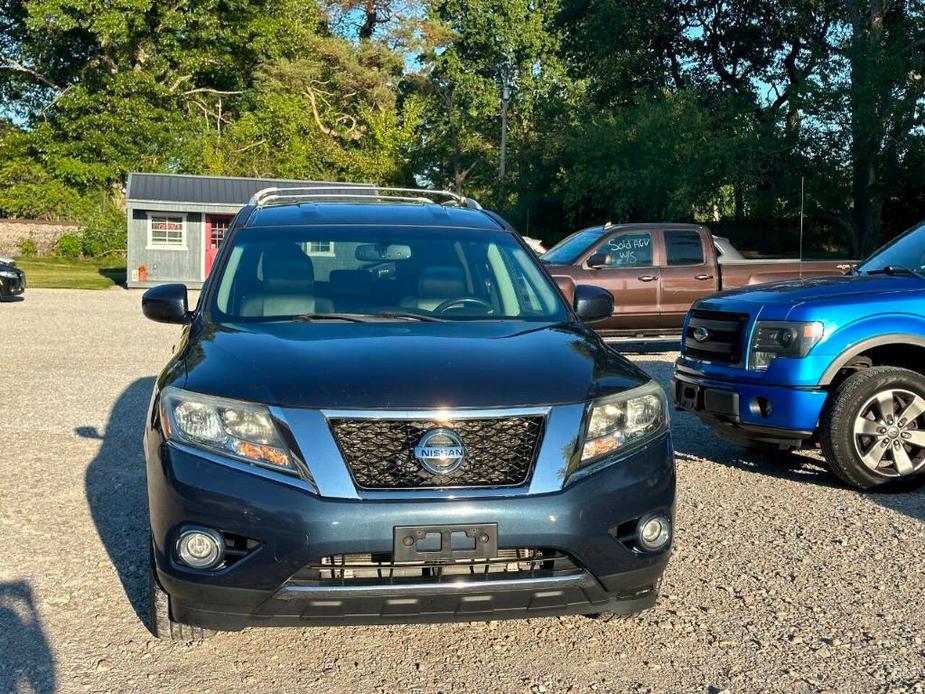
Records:
[[[298,471],[263,405],[165,388],[161,419],[171,440],[277,470]]]

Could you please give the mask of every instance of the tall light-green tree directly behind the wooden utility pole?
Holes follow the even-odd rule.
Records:
[[[422,113],[415,160],[422,179],[484,199],[497,196],[502,71],[516,75],[510,121],[516,153],[534,132],[537,106],[554,93],[560,76],[552,30],[557,11],[553,2],[528,0],[426,5],[423,69],[408,80],[409,98]]]

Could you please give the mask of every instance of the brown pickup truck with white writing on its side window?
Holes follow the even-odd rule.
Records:
[[[680,332],[697,299],[721,289],[795,277],[840,275],[851,261],[746,260],[728,239],[697,224],[605,224],[575,232],[541,256],[571,298],[576,284],[608,289],[604,335]]]

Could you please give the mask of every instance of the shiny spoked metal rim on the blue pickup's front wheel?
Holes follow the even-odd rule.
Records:
[[[889,389],[864,403],[854,420],[854,448],[864,464],[886,477],[904,477],[925,465],[925,398]]]

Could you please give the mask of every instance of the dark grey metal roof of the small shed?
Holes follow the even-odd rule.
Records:
[[[296,181],[282,178],[234,178],[230,176],[191,176],[187,174],[130,173],[126,187],[129,202],[169,202],[191,204],[247,204],[264,188],[331,188],[337,183]],[[370,186],[372,188],[373,186]]]

